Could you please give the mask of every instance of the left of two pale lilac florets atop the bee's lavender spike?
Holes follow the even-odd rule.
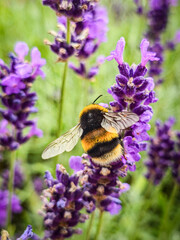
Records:
[[[123,37],[120,38],[120,40],[117,42],[116,49],[111,52],[111,55],[106,57],[106,60],[111,61],[113,59],[116,60],[116,62],[121,65],[123,63],[123,51],[125,47],[125,40]]]

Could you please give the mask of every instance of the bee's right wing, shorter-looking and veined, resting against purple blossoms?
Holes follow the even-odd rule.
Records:
[[[101,122],[101,126],[108,132],[120,132],[126,129],[139,120],[138,115],[133,112],[107,112],[104,113],[104,118]]]

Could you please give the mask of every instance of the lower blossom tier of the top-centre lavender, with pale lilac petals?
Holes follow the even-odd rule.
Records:
[[[70,68],[75,73],[86,79],[92,79],[98,73],[99,62],[96,66],[87,71],[85,60],[88,59],[102,42],[106,41],[107,33],[107,11],[104,7],[93,4],[82,14],[81,21],[70,22],[70,39],[67,41],[67,20],[65,16],[58,18],[59,32],[50,31],[54,36],[54,42],[45,40],[51,50],[58,55],[57,61],[67,61],[71,56],[75,56],[80,61],[79,67],[72,63]]]

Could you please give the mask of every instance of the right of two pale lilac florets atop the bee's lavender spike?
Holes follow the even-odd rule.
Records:
[[[150,61],[158,61],[159,58],[155,57],[155,52],[148,52],[149,41],[147,39],[143,39],[140,44],[141,49],[141,65],[145,66],[146,63]]]

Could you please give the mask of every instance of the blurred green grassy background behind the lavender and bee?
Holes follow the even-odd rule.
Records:
[[[108,9],[108,41],[103,43],[98,51],[89,59],[89,65],[93,65],[97,56],[108,56],[115,49],[120,37],[126,40],[124,60],[129,65],[140,62],[139,44],[147,29],[147,19],[138,16],[136,7],[131,0],[102,0],[101,3]],[[147,1],[144,1],[147,6]],[[180,28],[180,7],[172,7],[167,31],[163,33],[163,42],[173,38],[176,30]],[[57,31],[55,13],[42,5],[40,0],[1,0],[0,1],[0,58],[9,63],[8,53],[12,52],[17,41],[25,41],[29,48],[37,46],[47,64],[44,67],[45,80],[38,78],[33,85],[33,90],[38,95],[36,107],[38,113],[34,115],[38,119],[38,126],[43,130],[43,138],[33,138],[22,145],[18,150],[18,159],[23,162],[26,186],[19,190],[20,197],[26,211],[14,218],[13,231],[16,234],[31,224],[33,231],[43,236],[42,217],[38,214],[41,210],[41,200],[33,192],[32,176],[43,176],[48,169],[54,173],[53,160],[43,161],[41,153],[46,145],[54,140],[57,129],[57,100],[63,73],[64,63],[56,63],[57,56],[43,43],[44,39],[53,41],[48,35],[49,30]],[[176,118],[175,129],[180,129],[180,46],[176,50],[166,52],[164,71],[162,77],[165,82],[156,89],[159,101],[152,105],[154,116],[150,122],[150,135],[154,134],[154,123],[157,119],[165,121],[169,116]],[[73,62],[77,62],[72,58]],[[68,79],[65,87],[65,105],[63,109],[63,132],[69,130],[78,122],[81,109],[93,102],[100,94],[101,102],[108,103],[112,97],[107,89],[115,83],[118,73],[115,61],[105,62],[95,82],[87,82],[76,76],[72,70],[68,70]],[[88,95],[86,94],[88,91]],[[80,143],[70,153],[64,153],[60,162],[69,169],[68,159],[72,155],[83,153]],[[180,202],[178,195],[172,204],[167,228],[164,234],[160,233],[162,217],[169,203],[169,196],[173,189],[173,180],[168,173],[158,186],[152,186],[145,178],[146,169],[143,161],[146,154],[137,163],[136,172],[130,172],[122,179],[131,184],[131,189],[121,197],[122,211],[117,216],[104,215],[102,233],[100,239],[109,240],[154,240],[180,238]],[[1,164],[1,163],[0,163]],[[97,224],[97,218],[92,229],[92,239]],[[85,229],[88,222],[80,225]],[[84,233],[85,234],[85,233]],[[74,236],[72,239],[85,239],[85,235]],[[163,237],[162,237],[163,236]]]

